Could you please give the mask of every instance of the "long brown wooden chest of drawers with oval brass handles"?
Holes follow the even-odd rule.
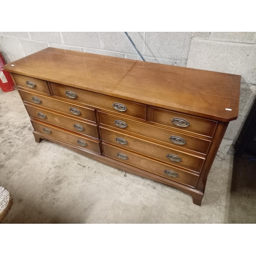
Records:
[[[5,70],[36,142],[176,187],[201,205],[228,122],[238,117],[240,76],[55,48]]]

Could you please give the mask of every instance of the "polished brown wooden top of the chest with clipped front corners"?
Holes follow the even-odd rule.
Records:
[[[39,51],[4,68],[15,74],[195,116],[220,121],[238,117],[239,75],[57,48]]]

